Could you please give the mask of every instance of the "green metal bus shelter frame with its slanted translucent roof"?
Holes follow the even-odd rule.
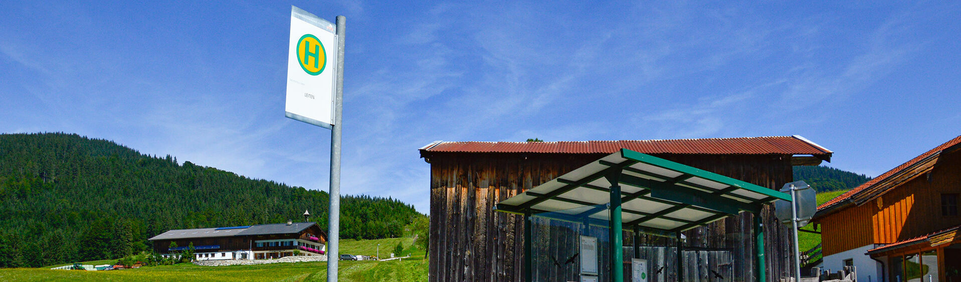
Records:
[[[562,221],[607,226],[612,266],[623,260],[624,228],[671,236],[678,240],[678,281],[683,247],[680,232],[729,216],[753,216],[755,281],[765,281],[764,228],[760,211],[765,203],[791,196],[742,180],[721,176],[677,162],[621,149],[563,176],[503,200],[496,211],[524,215],[524,252],[527,281],[531,279],[531,220],[533,214]],[[607,211],[604,213],[603,211]],[[634,244],[635,257],[639,247]],[[624,270],[611,268],[612,281],[623,281]]]

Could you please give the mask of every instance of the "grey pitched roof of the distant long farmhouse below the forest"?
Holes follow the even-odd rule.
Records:
[[[148,240],[171,240],[188,238],[211,238],[228,236],[250,236],[250,235],[269,235],[269,234],[291,234],[299,233],[317,223],[275,223],[259,224],[251,226],[235,227],[215,227],[215,228],[196,228],[196,229],[175,229],[169,230]]]

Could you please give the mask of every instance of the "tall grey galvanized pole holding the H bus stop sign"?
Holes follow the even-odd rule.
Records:
[[[331,133],[331,206],[328,223],[327,282],[337,281],[337,261],[340,260],[337,244],[340,242],[340,132],[344,128],[341,118],[344,109],[344,31],[347,17],[337,16],[337,68],[334,90],[333,127]]]

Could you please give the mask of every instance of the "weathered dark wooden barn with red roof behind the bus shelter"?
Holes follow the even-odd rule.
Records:
[[[801,136],[585,142],[433,142],[420,149],[431,164],[431,281],[522,281],[524,221],[495,212],[495,204],[628,149],[704,171],[779,189],[793,181],[792,166],[818,165],[831,152]],[[760,214],[766,277],[791,275],[789,228],[771,206]],[[727,250],[734,273],[725,281],[753,281],[752,214],[742,213],[683,232],[684,249]],[[626,241],[631,236],[624,236]],[[657,245],[656,236],[628,245]],[[649,242],[650,241],[650,242]],[[696,263],[696,262],[695,262]],[[708,280],[706,274],[685,280]],[[694,278],[699,277],[699,278]],[[715,280],[711,281],[716,281]]]

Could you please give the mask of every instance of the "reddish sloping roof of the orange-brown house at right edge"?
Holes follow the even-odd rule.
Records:
[[[875,186],[886,185],[886,184],[887,185],[899,184],[899,183],[903,183],[904,181],[910,180],[911,178],[913,178],[913,176],[918,176],[919,174],[912,174],[910,176],[905,175],[915,171],[909,168],[915,168],[918,165],[924,164],[925,162],[936,160],[936,159],[932,159],[932,157],[937,156],[942,151],[949,149],[950,147],[958,144],[961,144],[961,136],[954,137],[954,139],[951,139],[948,142],[945,142],[944,144],[941,144],[938,147],[935,147],[934,149],[931,149],[928,152],[922,153],[912,158],[911,160],[908,160],[907,162],[900,164],[898,167],[884,174],[881,174],[880,176],[877,176],[874,179],[868,180],[868,182],[864,182],[864,184],[854,187],[854,189],[851,189],[850,191],[845,192],[844,194],[841,194],[841,196],[838,196],[834,199],[826,201],[825,203],[818,206],[818,214],[826,214],[830,209],[841,206],[840,204],[842,203],[842,201],[850,200],[852,197],[859,196],[860,194],[867,193],[869,191],[873,191],[875,190],[874,189]],[[899,176],[903,176],[903,177],[899,177]],[[892,183],[892,180],[895,180],[896,178],[898,178],[899,181],[897,183]]]

